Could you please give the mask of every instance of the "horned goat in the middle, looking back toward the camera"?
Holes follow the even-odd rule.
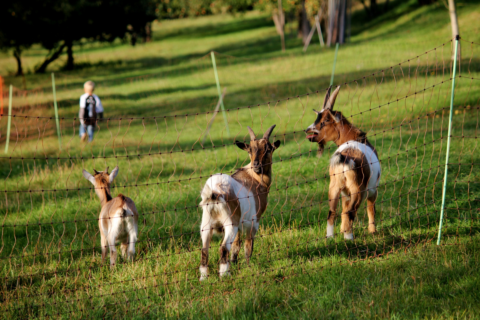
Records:
[[[214,232],[224,233],[220,246],[220,276],[229,275],[229,252],[230,260],[237,262],[241,233],[246,237],[247,264],[252,256],[253,238],[267,206],[268,190],[272,181],[272,154],[280,145],[280,140],[273,144],[268,141],[275,125],[268,128],[261,139],[256,139],[252,128],[247,128],[250,144],[239,141],[235,141],[235,144],[248,152],[250,163],[236,169],[231,176],[221,173],[213,175],[202,190],[200,206],[204,212],[200,227],[203,242],[200,281],[208,277],[208,249]]]

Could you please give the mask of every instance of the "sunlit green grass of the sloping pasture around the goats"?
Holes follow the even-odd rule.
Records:
[[[49,119],[50,74],[13,77],[14,60],[2,54],[4,83],[35,89],[15,89],[10,145],[0,159],[2,317],[477,318],[480,3],[458,6],[465,41],[441,247],[435,243],[451,90],[448,12],[441,1],[390,3],[371,22],[354,12],[351,40],[338,50],[334,84],[346,84],[336,108],[367,132],[383,171],[379,232],[368,234],[361,208],[355,240],[347,242],[339,221],[336,237],[325,238],[335,144],[318,157],[302,131],[315,119],[312,108],[323,102],[332,70],[334,49],[321,48],[318,38],[304,54],[288,24],[282,53],[272,21],[249,12],[155,23],[153,41],[135,47],[85,42],[74,48],[78,69],[63,71],[64,60],[49,67],[63,118],[61,150]],[[213,122],[211,50],[229,109]],[[26,70],[45,54],[24,52]],[[79,142],[72,119],[86,80],[97,83],[109,118],[88,144]],[[2,117],[2,148],[6,123]],[[199,283],[203,183],[247,163],[233,143],[249,139],[246,126],[262,134],[273,124],[271,141],[282,143],[250,265],[240,259],[230,278],[218,278],[216,237],[211,277]],[[81,172],[116,165],[112,193],[135,201],[140,238],[137,260],[119,257],[111,271],[100,261],[99,201]]]

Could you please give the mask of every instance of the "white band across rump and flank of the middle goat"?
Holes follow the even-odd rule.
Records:
[[[226,174],[216,174],[210,177],[205,184],[216,193],[231,193],[238,197],[240,202],[241,219],[239,229],[252,227],[253,219],[256,220],[256,208],[253,193],[247,190],[240,182]]]

